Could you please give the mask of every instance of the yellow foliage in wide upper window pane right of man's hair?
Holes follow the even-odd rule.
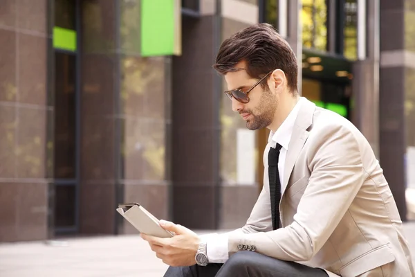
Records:
[[[302,41],[306,48],[327,50],[326,0],[302,0]]]

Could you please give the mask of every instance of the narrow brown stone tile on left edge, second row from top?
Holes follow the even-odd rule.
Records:
[[[0,10],[2,5],[5,5],[3,1],[0,3]],[[17,93],[16,33],[0,28],[0,45],[0,101],[15,101]]]

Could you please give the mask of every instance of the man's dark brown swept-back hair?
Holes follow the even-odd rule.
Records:
[[[259,79],[281,69],[286,74],[289,89],[297,91],[297,58],[288,42],[270,24],[255,24],[225,39],[213,67],[226,74],[240,70],[234,66],[243,60],[250,77]]]

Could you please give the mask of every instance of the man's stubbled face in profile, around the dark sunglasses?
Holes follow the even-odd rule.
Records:
[[[245,68],[242,65],[235,66]],[[248,91],[258,80],[252,79],[245,70],[228,72],[225,74],[225,80],[228,84],[228,90],[241,89]],[[266,78],[268,80],[268,78]],[[262,84],[266,84],[266,80]],[[243,120],[246,120],[246,127],[251,130],[268,127],[274,119],[275,111],[278,107],[278,96],[270,91],[268,86],[264,89],[258,84],[248,94],[250,101],[246,104],[238,102],[232,98],[232,110],[239,112]]]

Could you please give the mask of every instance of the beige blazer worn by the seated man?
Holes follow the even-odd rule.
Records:
[[[347,119],[304,100],[285,161],[283,228],[272,231],[268,144],[264,188],[246,225],[228,233],[229,254],[255,247],[329,276],[414,277],[398,209],[371,146]]]

